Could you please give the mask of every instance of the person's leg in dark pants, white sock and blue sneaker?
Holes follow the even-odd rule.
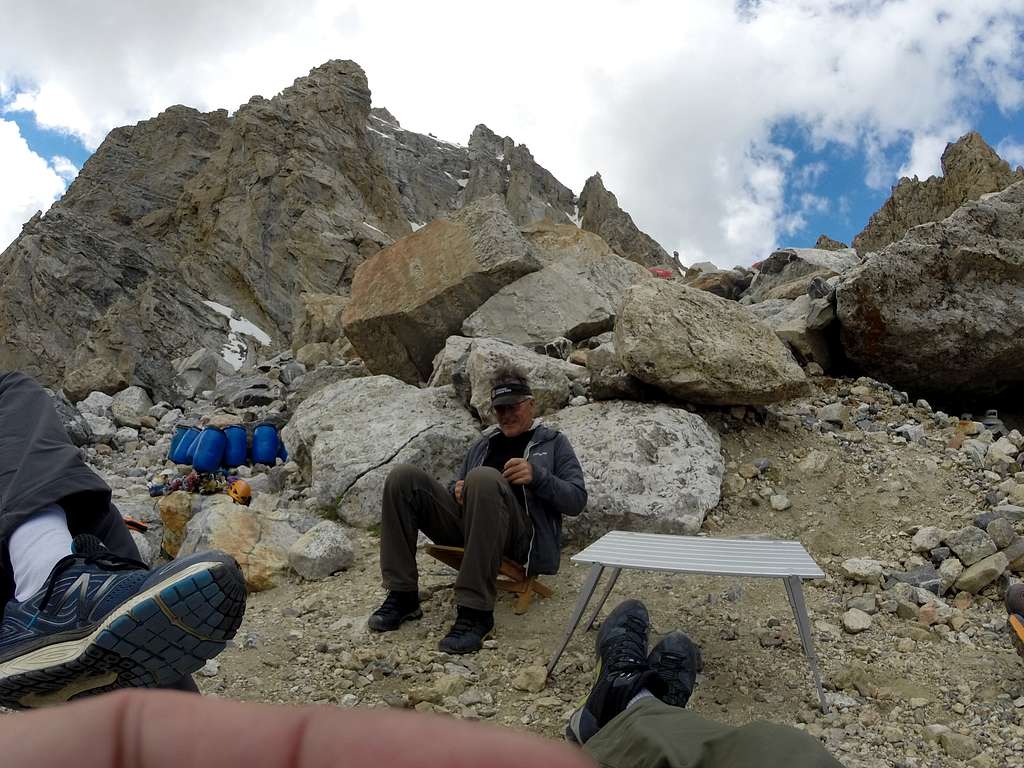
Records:
[[[242,622],[238,564],[204,552],[151,571],[138,557],[49,396],[0,372],[0,707],[196,690],[188,675]]]

